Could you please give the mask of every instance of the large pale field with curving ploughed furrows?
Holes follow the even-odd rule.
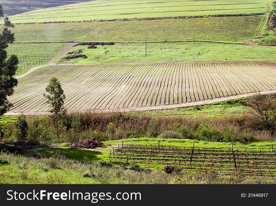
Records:
[[[275,64],[270,64],[275,68]],[[266,63],[148,63],[53,65],[19,78],[10,112],[45,112],[43,93],[55,75],[67,110],[142,109],[274,90]]]

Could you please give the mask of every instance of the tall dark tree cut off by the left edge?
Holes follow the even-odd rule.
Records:
[[[0,17],[3,17],[3,8],[0,5]],[[13,87],[17,85],[17,79],[13,76],[17,70],[18,58],[11,55],[7,58],[8,44],[13,43],[14,34],[9,28],[14,27],[8,17],[4,18],[4,24],[0,28],[0,116],[6,113],[13,105],[8,101],[7,97],[14,92]]]

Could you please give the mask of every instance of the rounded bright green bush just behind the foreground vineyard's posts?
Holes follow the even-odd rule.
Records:
[[[219,130],[214,127],[210,127],[205,123],[201,123],[197,128],[197,134],[200,140],[220,142],[222,137]]]

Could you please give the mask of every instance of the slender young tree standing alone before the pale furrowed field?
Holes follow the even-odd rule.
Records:
[[[47,103],[50,104],[51,109],[50,113],[54,115],[56,122],[56,135],[59,139],[59,131],[58,131],[58,118],[61,116],[61,113],[65,111],[64,109],[64,100],[65,94],[63,89],[61,88],[61,84],[55,76],[50,78],[50,82],[46,87],[47,94],[44,93],[43,96],[47,98]]]

